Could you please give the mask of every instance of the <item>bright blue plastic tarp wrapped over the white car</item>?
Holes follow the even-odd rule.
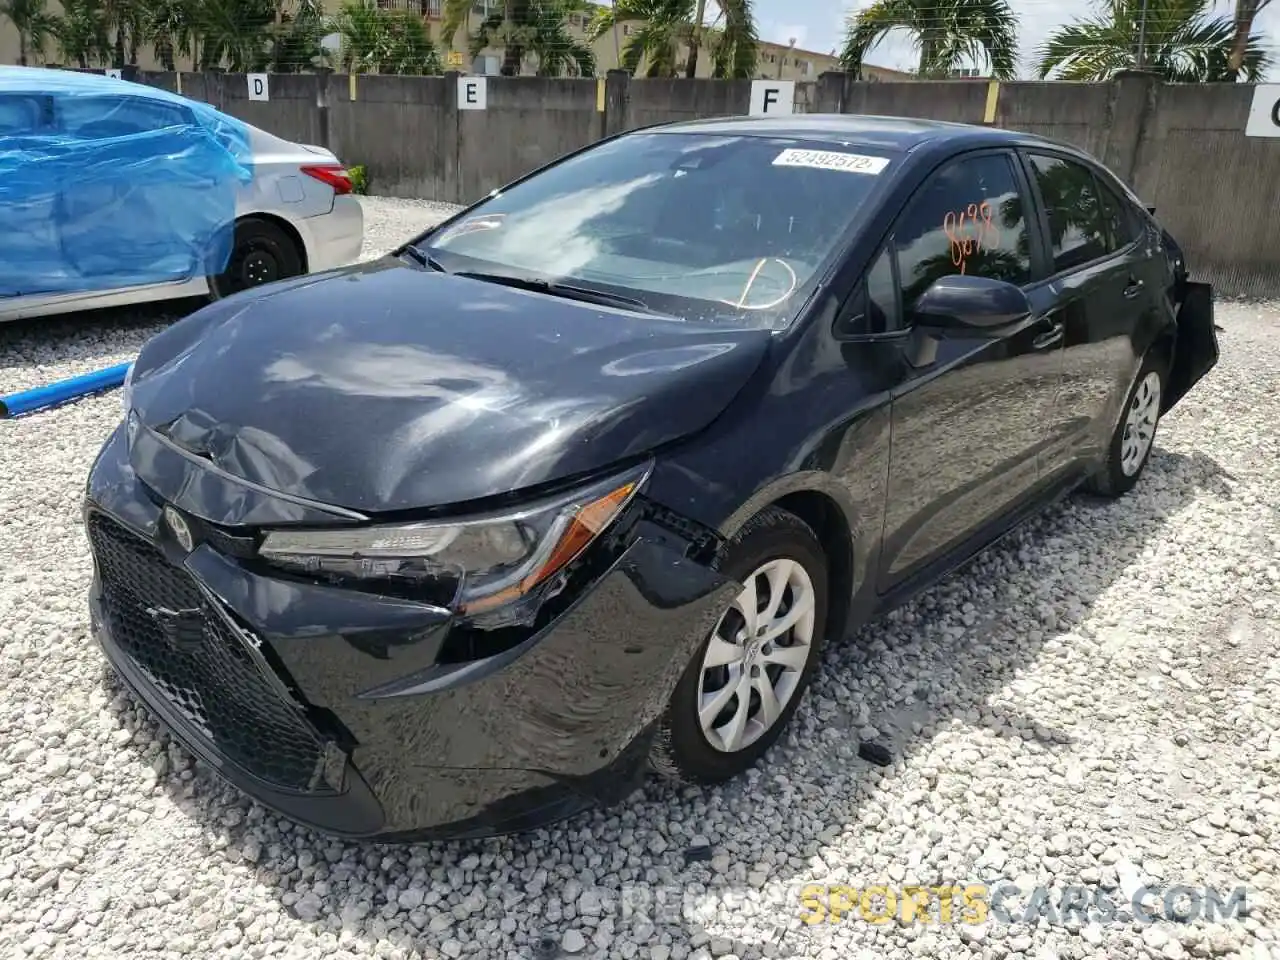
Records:
[[[0,297],[221,273],[248,128],[110,77],[0,67]]]

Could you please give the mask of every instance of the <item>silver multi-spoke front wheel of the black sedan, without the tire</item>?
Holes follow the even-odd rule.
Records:
[[[814,636],[805,568],[772,559],[744,581],[703,657],[698,719],[707,742],[737,753],[764,736],[800,687]]]

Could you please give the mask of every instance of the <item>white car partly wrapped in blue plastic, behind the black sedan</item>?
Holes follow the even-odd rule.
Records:
[[[0,67],[0,320],[227,296],[362,238],[328,150],[141,83]]]

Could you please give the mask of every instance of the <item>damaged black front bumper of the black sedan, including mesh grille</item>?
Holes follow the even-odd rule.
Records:
[[[214,538],[183,550],[124,433],[86,498],[95,636],[193,754],[325,833],[493,836],[625,797],[737,589],[637,500],[628,541],[567,609],[498,653],[442,663],[460,628],[448,609],[273,576]],[[225,484],[184,489],[218,486],[206,507],[262,497]]]

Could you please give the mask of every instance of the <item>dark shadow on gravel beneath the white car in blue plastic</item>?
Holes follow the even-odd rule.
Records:
[[[67,361],[124,362],[161,329],[206,302],[188,298],[8,320],[0,323],[0,370]]]

